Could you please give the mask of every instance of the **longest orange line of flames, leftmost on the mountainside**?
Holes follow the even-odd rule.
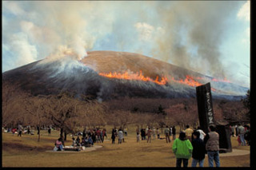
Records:
[[[125,73],[98,73],[100,76],[103,77],[109,77],[109,78],[117,78],[117,79],[126,79],[126,80],[137,80],[137,81],[151,81],[154,82],[158,85],[166,85],[167,83],[167,78],[166,77],[161,77],[161,81],[159,81],[159,77],[157,76],[154,79],[150,78],[150,77],[145,77],[142,74],[142,71],[140,70],[139,73],[128,73],[128,71],[126,71]]]

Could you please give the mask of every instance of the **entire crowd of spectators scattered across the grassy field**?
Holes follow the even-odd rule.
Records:
[[[30,134],[30,126],[27,126],[25,129],[22,125],[18,125],[18,128],[8,129],[7,131],[18,133],[18,136],[22,136],[22,132]],[[50,136],[51,128],[48,127],[48,135]],[[80,139],[80,136],[82,138]],[[100,128],[90,128],[89,130],[84,130],[80,133],[75,139],[72,137],[73,147],[90,147],[94,143],[103,143],[104,139],[107,138],[106,128],[102,130]],[[127,128],[116,128],[112,129],[111,140],[112,144],[115,144],[115,139],[118,138],[118,144],[122,144],[125,141],[124,136],[127,136]],[[163,136],[161,137],[161,132],[159,128],[141,128],[136,129],[136,140],[146,140],[147,143],[151,143],[151,140],[161,140],[166,139],[166,143],[174,141],[172,146],[172,151],[176,157],[176,166],[183,167],[188,166],[188,161],[192,157],[192,167],[196,167],[199,164],[199,167],[203,167],[205,155],[208,156],[209,167],[220,167],[219,160],[219,134],[216,132],[216,127],[210,125],[208,132],[203,132],[202,128],[198,127],[197,129],[190,128],[189,125],[186,125],[185,130],[181,130],[178,138],[176,139],[176,128],[171,126],[170,128],[166,125],[163,130]],[[172,136],[172,138],[171,138]],[[250,145],[250,126],[249,125],[230,125],[230,136],[238,137],[238,145],[246,146]],[[55,142],[54,150],[63,151],[65,147],[64,140],[59,138]]]

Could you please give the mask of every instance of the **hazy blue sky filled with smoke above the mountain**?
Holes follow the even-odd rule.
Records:
[[[249,87],[250,2],[2,2],[2,72],[67,50],[142,53]]]

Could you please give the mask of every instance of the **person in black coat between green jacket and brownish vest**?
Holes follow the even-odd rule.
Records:
[[[199,167],[203,167],[203,162],[205,159],[206,154],[206,146],[202,139],[200,139],[200,132],[194,131],[193,132],[193,152],[192,152],[192,167],[196,167],[199,164]]]

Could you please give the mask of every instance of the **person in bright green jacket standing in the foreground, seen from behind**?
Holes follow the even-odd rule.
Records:
[[[187,167],[189,159],[192,156],[193,146],[190,143],[190,140],[186,139],[186,133],[180,132],[178,139],[174,140],[173,152],[176,156],[176,167],[182,166]]]

